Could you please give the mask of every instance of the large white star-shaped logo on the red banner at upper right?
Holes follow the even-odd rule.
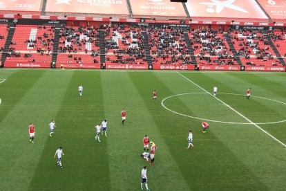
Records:
[[[232,10],[237,10],[239,12],[249,13],[247,10],[240,8],[239,6],[233,5],[236,0],[227,0],[227,1],[219,1],[219,0],[209,0],[210,2],[202,2],[200,4],[207,6],[207,12],[209,13],[220,13],[224,8],[229,8]],[[214,8],[216,7],[216,8]]]

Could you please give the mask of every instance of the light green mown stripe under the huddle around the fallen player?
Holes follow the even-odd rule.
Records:
[[[144,160],[140,158],[140,154],[143,152],[142,140],[145,134],[158,144],[161,153],[161,156],[159,156],[158,152],[155,165],[147,164],[149,188],[151,190],[171,190],[175,188],[189,190],[178,168],[175,166],[168,147],[166,147],[166,143],[164,143],[162,135],[150,115],[149,109],[146,108],[130,76],[126,74],[102,73],[104,95],[108,95],[104,99],[105,113],[109,113],[111,117],[111,128],[117,129],[116,136],[111,135],[112,137],[109,137],[111,140],[108,141],[111,190],[140,190],[140,174],[142,167],[146,165]],[[149,78],[149,75],[152,74],[144,73],[143,75],[144,78]],[[150,93],[152,91],[144,96],[148,97],[151,102]],[[120,111],[123,107],[127,113],[125,125],[121,124],[120,116]],[[118,138],[116,139],[115,137]],[[170,172],[171,170],[173,170],[171,174],[167,176],[164,174],[164,172]],[[122,176],[122,172],[126,173]],[[171,183],[174,177],[178,178],[176,179],[178,186]]]

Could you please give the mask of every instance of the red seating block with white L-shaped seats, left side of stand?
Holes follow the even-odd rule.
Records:
[[[17,25],[8,48],[8,62],[51,62],[55,26]]]

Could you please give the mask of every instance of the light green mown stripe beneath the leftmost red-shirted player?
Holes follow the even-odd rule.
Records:
[[[12,87],[18,87],[22,98],[0,123],[0,132],[3,135],[0,145],[1,172],[6,174],[1,176],[3,190],[28,190],[48,138],[48,122],[57,113],[61,93],[65,91],[65,84],[69,81],[68,75],[56,75],[49,71],[19,73],[21,78],[9,82],[15,82]],[[20,93],[20,89],[26,93]],[[7,93],[10,95],[13,92]],[[30,122],[34,122],[36,127],[35,144],[29,142]]]

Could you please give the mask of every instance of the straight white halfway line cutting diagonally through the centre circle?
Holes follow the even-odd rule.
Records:
[[[189,78],[185,77],[184,75],[178,73],[179,75],[181,75],[183,78],[185,78],[186,80],[188,80],[189,82],[191,82],[192,84],[194,84],[196,87],[202,89],[202,91],[208,93],[209,95],[211,95],[213,98],[216,98],[216,100],[222,102],[222,104],[225,104],[225,106],[229,107],[229,109],[231,109],[232,111],[238,113],[239,116],[241,116],[242,118],[244,118],[245,120],[247,120],[248,122],[250,122],[252,125],[254,125],[255,127],[257,127],[258,129],[260,129],[261,131],[263,131],[265,134],[267,134],[268,136],[270,136],[271,138],[273,138],[274,140],[276,140],[278,143],[280,143],[281,145],[283,145],[284,147],[286,147],[286,145],[284,143],[282,143],[280,140],[278,140],[277,138],[275,138],[274,136],[272,136],[271,134],[269,134],[267,131],[265,131],[263,128],[259,127],[256,123],[252,122],[251,120],[249,120],[249,118],[243,116],[240,112],[236,111],[236,109],[233,109],[231,106],[229,106],[229,104],[225,103],[224,101],[220,100],[217,97],[214,97],[211,93],[209,93],[207,90],[205,90],[204,88],[200,87],[198,84],[196,84],[195,82],[193,82],[192,80],[190,80]]]

